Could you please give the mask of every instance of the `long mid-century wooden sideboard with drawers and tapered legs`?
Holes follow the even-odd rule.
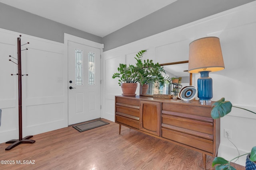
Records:
[[[164,139],[202,153],[217,156],[220,145],[220,119],[212,119],[212,104],[198,100],[115,96],[115,122],[142,133]]]

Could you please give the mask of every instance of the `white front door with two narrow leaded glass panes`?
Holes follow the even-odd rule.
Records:
[[[68,124],[100,118],[100,49],[68,41]]]

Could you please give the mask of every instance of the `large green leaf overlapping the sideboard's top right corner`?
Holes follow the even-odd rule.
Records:
[[[229,101],[225,101],[225,98],[221,98],[220,100],[212,104],[212,107],[212,118],[218,119],[230,113],[232,104]]]

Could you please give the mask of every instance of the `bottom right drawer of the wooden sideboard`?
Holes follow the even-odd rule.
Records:
[[[172,141],[213,153],[213,141],[162,128],[162,137]]]

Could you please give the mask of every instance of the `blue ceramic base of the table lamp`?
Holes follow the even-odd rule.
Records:
[[[210,71],[201,71],[201,77],[197,80],[198,98],[201,103],[211,103],[212,99],[212,78]]]

